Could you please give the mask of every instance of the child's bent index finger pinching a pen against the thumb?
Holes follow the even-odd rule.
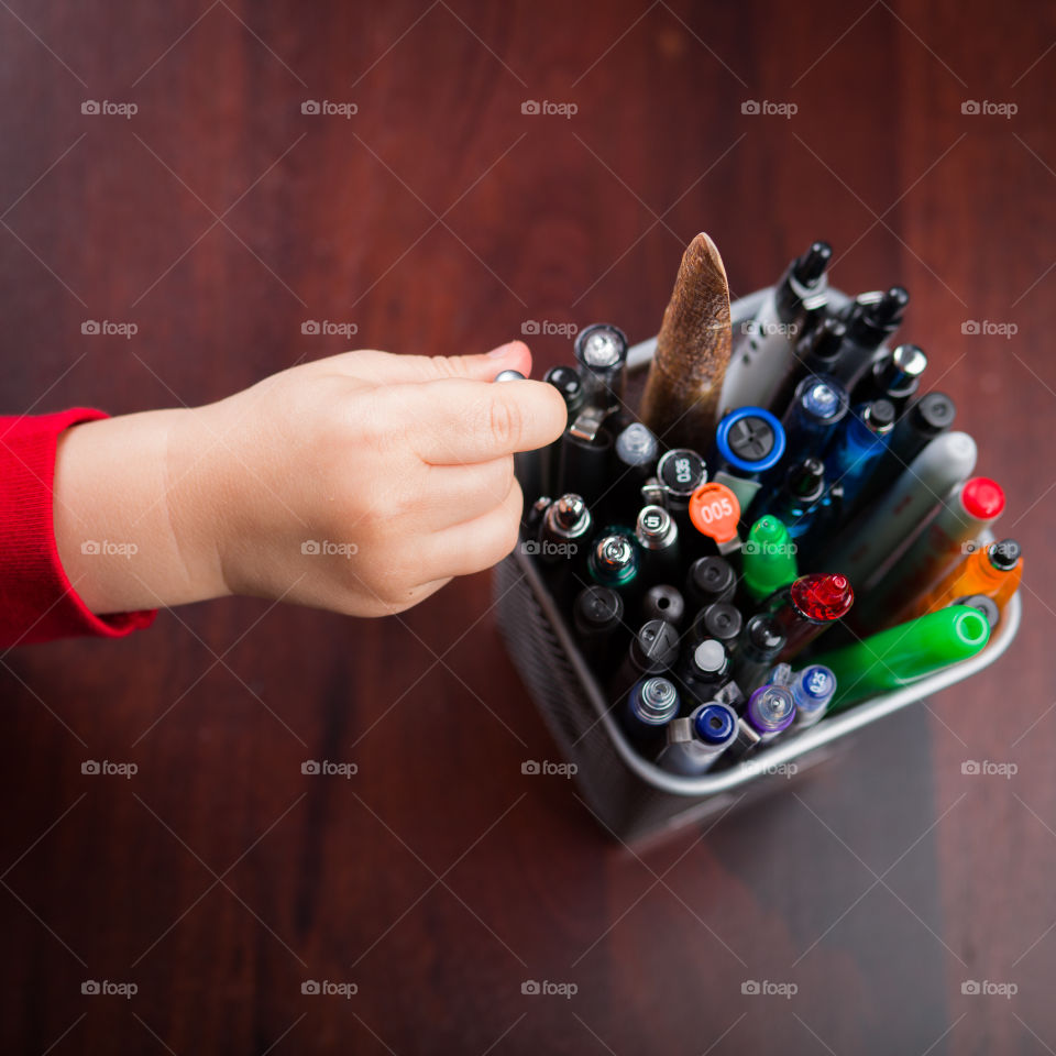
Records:
[[[486,462],[534,451],[564,432],[568,409],[558,391],[529,380],[496,385],[444,378],[416,389],[411,447],[433,465]]]

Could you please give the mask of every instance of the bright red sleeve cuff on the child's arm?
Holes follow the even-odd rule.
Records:
[[[106,417],[86,407],[0,417],[0,648],[75,635],[118,638],[150,626],[157,615],[96,616],[58,558],[52,518],[58,435],[78,421]]]

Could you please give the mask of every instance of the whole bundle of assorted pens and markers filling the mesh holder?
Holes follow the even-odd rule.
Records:
[[[682,258],[640,410],[624,334],[592,326],[546,380],[569,427],[518,457],[522,552],[614,718],[678,774],[971,657],[1016,591],[1004,506],[954,403],[890,348],[905,289],[829,289],[815,242],[730,321],[722,258]],[[824,638],[822,637],[824,635]]]

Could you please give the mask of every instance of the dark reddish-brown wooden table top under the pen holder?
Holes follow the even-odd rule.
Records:
[[[529,320],[640,339],[697,230],[736,293],[825,237],[842,287],[911,288],[904,333],[1008,492],[1023,629],[787,794],[638,856],[521,774],[554,748],[487,575],[399,618],[240,600],[10,652],[0,1047],[1053,1052],[1054,11],[370,7],[0,6],[6,413],[199,404],[349,346],[307,320],[407,352]]]

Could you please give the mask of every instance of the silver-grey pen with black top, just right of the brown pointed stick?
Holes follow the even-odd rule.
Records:
[[[755,319],[743,328],[723,386],[723,406],[771,407],[795,370],[795,340],[811,307],[826,299],[827,242],[814,242],[768,293]]]

